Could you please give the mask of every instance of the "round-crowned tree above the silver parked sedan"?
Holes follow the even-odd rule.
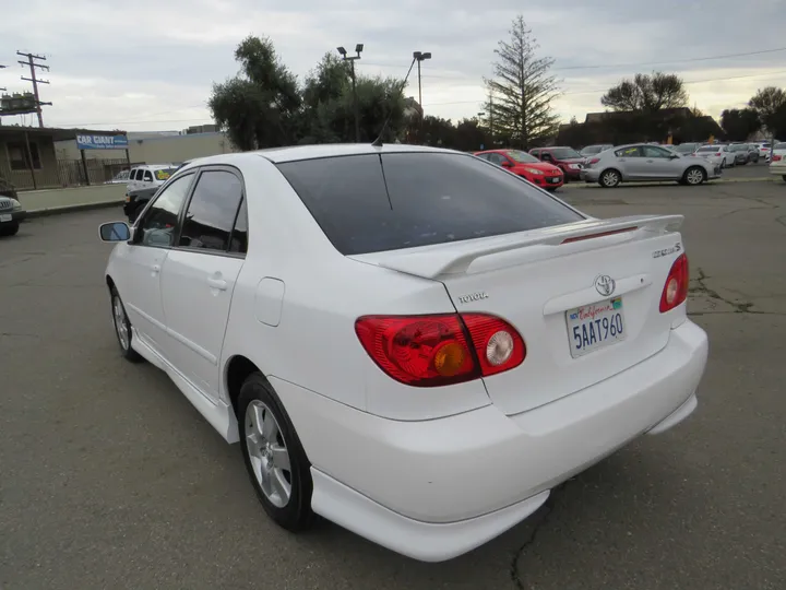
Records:
[[[617,111],[640,111],[651,115],[662,108],[688,105],[688,93],[677,74],[653,72],[635,74],[633,80],[622,80],[608,90],[600,104]]]

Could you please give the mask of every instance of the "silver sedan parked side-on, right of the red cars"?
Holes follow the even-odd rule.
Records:
[[[591,158],[582,169],[582,179],[612,188],[633,180],[677,180],[701,185],[717,178],[720,167],[703,158],[683,157],[660,145],[635,143],[608,150]]]

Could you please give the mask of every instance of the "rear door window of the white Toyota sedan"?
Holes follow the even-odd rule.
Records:
[[[203,172],[186,211],[178,245],[228,251],[240,201],[242,182],[237,176],[225,170]]]

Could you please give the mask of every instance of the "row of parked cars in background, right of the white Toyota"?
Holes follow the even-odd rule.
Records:
[[[720,176],[724,168],[761,158],[771,160],[771,173],[786,175],[786,142],[771,149],[767,142],[660,145],[588,145],[581,152],[569,146],[521,150],[487,150],[478,157],[502,166],[536,186],[556,190],[564,182],[582,180],[611,188],[626,181],[675,180],[701,185]],[[784,176],[786,180],[786,176]]]

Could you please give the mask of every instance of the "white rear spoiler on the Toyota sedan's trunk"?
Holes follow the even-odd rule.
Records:
[[[445,274],[466,273],[475,260],[496,253],[531,246],[567,246],[609,236],[627,235],[629,237],[626,239],[632,239],[636,234],[640,236],[641,233],[665,234],[679,229],[683,221],[683,215],[636,215],[610,220],[586,220],[503,236],[350,258],[425,279],[436,279]],[[556,251],[551,252],[552,256],[556,253]],[[570,252],[565,251],[565,253]]]

